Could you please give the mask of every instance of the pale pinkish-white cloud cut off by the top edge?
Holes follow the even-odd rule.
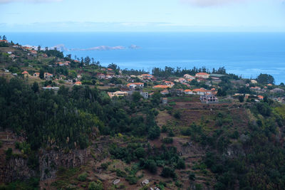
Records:
[[[191,4],[194,6],[221,6],[225,4],[243,3],[247,1],[258,1],[258,0],[180,0],[182,3]],[[285,0],[272,0],[284,3]]]

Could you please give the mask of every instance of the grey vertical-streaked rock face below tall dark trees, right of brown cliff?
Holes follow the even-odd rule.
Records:
[[[88,149],[75,149],[69,152],[41,150],[39,154],[39,171],[41,180],[56,178],[59,167],[79,167],[86,164],[90,156]]]

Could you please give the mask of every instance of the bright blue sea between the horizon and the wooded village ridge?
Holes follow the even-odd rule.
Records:
[[[145,69],[165,66],[219,68],[285,82],[285,33],[5,33],[22,45],[61,45],[64,54],[90,56],[102,65]],[[59,46],[58,46],[59,47]]]

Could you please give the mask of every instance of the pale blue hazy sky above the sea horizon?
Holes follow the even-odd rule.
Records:
[[[285,32],[285,0],[0,0],[0,31]]]

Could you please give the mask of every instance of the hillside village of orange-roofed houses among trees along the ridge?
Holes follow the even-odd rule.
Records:
[[[0,48],[12,65],[3,68],[2,72],[10,73],[14,77],[30,78],[41,82],[43,90],[59,90],[61,85],[71,88],[73,85],[89,85],[108,93],[110,98],[127,97],[139,92],[144,99],[160,93],[164,97],[199,96],[202,103],[222,103],[234,101],[259,102],[264,97],[284,102],[284,84],[259,83],[256,79],[229,78],[227,73],[186,73],[181,76],[156,76],[147,72],[124,72],[115,64],[103,67],[98,63],[91,63],[90,58],[71,59],[63,57],[57,50],[43,51],[41,47],[20,46],[1,40]],[[60,56],[58,56],[60,55]],[[30,63],[21,64],[27,58]],[[37,62],[37,63],[36,63]],[[36,64],[35,64],[36,63]],[[41,64],[38,64],[41,63]],[[204,71],[204,70],[203,70]],[[227,83],[226,87],[223,83]]]

